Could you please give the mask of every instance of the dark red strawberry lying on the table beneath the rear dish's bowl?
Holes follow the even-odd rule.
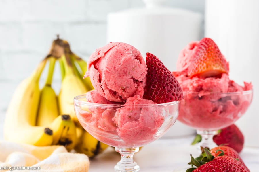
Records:
[[[239,128],[235,124],[232,124],[220,130],[219,134],[213,137],[213,141],[217,145],[226,144],[239,153],[243,149],[244,136]]]

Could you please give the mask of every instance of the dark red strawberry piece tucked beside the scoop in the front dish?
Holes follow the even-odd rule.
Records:
[[[146,87],[144,98],[156,103],[166,103],[183,99],[180,84],[165,65],[153,54],[146,53]]]

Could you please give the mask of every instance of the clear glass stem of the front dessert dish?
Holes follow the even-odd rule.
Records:
[[[116,172],[137,172],[139,166],[133,160],[133,154],[138,152],[139,148],[117,148],[116,152],[121,154],[121,160],[115,165],[114,169]]]

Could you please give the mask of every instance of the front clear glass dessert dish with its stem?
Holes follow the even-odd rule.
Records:
[[[94,138],[115,147],[121,160],[115,171],[139,171],[133,154],[149,144],[174,124],[180,101],[161,104],[99,104],[86,101],[86,95],[74,98],[75,113],[80,124]]]

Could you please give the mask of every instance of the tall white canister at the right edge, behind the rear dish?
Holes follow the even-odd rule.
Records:
[[[259,1],[206,0],[205,36],[218,44],[230,64],[230,79],[252,82],[253,100],[236,122],[246,146],[259,147]]]

